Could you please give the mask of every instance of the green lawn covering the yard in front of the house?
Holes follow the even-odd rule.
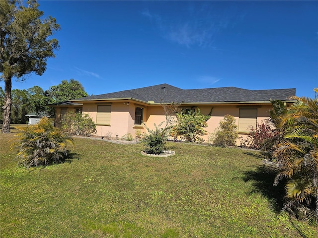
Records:
[[[75,138],[66,163],[26,170],[13,135],[0,135],[1,238],[318,237],[280,211],[283,187],[257,152],[171,142],[175,156],[146,157],[142,144]]]

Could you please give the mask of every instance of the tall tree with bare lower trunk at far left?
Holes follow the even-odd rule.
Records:
[[[56,19],[42,19],[36,0],[0,1],[0,72],[4,81],[2,132],[10,132],[12,78],[24,80],[26,74],[42,75],[46,60],[55,57],[58,40],[50,36],[60,29]]]

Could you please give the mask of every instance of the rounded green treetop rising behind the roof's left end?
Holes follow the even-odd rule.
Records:
[[[75,79],[62,80],[59,85],[51,86],[48,93],[55,103],[88,96],[81,83]]]

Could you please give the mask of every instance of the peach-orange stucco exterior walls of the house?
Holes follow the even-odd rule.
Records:
[[[127,105],[128,104],[128,105]],[[97,117],[97,105],[95,102],[83,103],[82,113],[86,113],[89,117],[96,122]],[[142,125],[135,125],[135,108],[143,107],[144,115],[143,121],[150,129],[154,129],[154,123],[159,125],[162,121],[165,121],[164,110],[160,105],[156,106],[142,106],[135,104],[134,102],[115,102],[111,103],[111,116],[109,125],[96,125],[97,136],[111,136],[115,137],[118,135],[121,138],[127,133],[131,133],[133,137],[136,136],[136,131],[147,132],[146,128]],[[208,142],[209,133],[215,131],[218,127],[220,120],[224,118],[225,115],[230,114],[235,117],[236,123],[239,124],[239,107],[240,105],[199,105],[202,114],[209,114],[211,109],[211,118],[208,120],[207,134],[202,136],[202,138]],[[189,106],[191,108],[191,106]],[[271,109],[271,104],[258,105],[257,108],[257,122],[260,123],[262,120],[268,118],[268,111]],[[68,108],[68,111],[75,110],[75,108]],[[56,108],[57,122],[60,120],[61,108]],[[241,133],[239,136],[246,137],[246,133]],[[239,145],[239,139],[237,141]]]

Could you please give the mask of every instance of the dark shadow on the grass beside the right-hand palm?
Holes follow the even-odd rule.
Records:
[[[259,166],[256,171],[244,173],[245,182],[252,181],[254,189],[250,193],[258,192],[271,201],[272,209],[279,213],[284,205],[284,184],[281,180],[277,186],[273,186],[274,179],[278,174],[278,169],[272,166]]]

